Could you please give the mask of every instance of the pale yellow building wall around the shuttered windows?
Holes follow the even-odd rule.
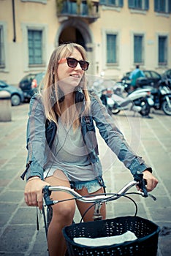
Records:
[[[88,53],[91,59],[93,75],[99,75],[102,70],[106,78],[118,80],[124,72],[134,69],[133,62],[133,34],[142,33],[145,36],[145,63],[143,69],[153,69],[163,72],[171,67],[171,15],[159,15],[153,12],[153,1],[150,10],[137,12],[129,10],[128,1],[123,1],[122,8],[99,7],[100,18],[88,24],[91,31],[93,53]],[[8,83],[17,85],[21,78],[29,72],[39,72],[47,67],[47,61],[53,48],[57,44],[57,35],[62,23],[56,15],[56,1],[47,0],[47,4],[15,0],[16,42],[13,42],[12,1],[0,0],[0,25],[5,24],[6,67],[0,69],[0,77]],[[28,52],[26,48],[25,26],[45,26],[45,66],[28,68]],[[105,61],[105,31],[115,31],[118,34],[118,64],[107,67]],[[74,38],[74,31],[68,29],[70,39]],[[168,65],[158,67],[157,36],[161,34],[169,37]]]

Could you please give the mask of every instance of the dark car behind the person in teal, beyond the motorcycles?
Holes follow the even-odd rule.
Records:
[[[159,83],[159,80],[161,80],[161,75],[153,70],[143,70],[146,82],[149,86],[156,87]],[[131,75],[131,72],[126,72],[125,75],[123,75],[123,78],[121,78],[121,81],[125,80],[126,83],[131,83],[131,80],[129,76]]]

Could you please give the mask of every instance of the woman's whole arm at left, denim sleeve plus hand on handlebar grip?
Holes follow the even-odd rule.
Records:
[[[42,189],[47,182],[43,181],[44,165],[47,161],[45,138],[45,115],[41,98],[31,98],[28,113],[27,149],[28,168],[26,170],[25,202],[28,206],[38,206],[42,209]]]

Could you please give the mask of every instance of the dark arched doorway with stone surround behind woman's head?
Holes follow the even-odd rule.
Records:
[[[72,18],[61,23],[56,34],[56,45],[64,42],[77,42],[86,49],[87,59],[91,63],[88,74],[95,75],[94,44],[88,24],[79,18]]]

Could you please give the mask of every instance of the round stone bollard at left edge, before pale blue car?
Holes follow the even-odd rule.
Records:
[[[11,94],[0,91],[0,121],[11,121]]]

